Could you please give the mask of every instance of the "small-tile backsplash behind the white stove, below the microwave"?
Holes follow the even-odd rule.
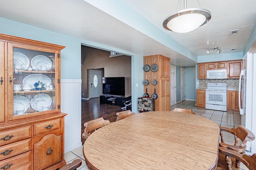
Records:
[[[239,79],[200,79],[199,88],[206,89],[206,83],[226,83],[227,87],[237,87],[239,85]]]

